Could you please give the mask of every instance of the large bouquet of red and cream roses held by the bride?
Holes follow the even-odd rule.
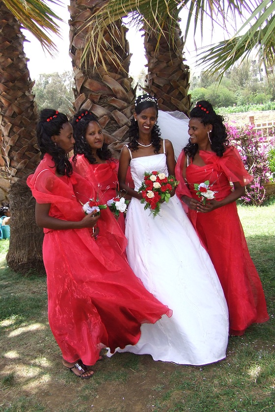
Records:
[[[160,207],[163,202],[168,203],[171,194],[170,192],[176,188],[179,182],[174,176],[166,176],[165,173],[153,171],[152,173],[144,173],[144,180],[138,193],[141,192],[141,203],[145,203],[144,210],[150,209],[155,218],[160,213]]]

